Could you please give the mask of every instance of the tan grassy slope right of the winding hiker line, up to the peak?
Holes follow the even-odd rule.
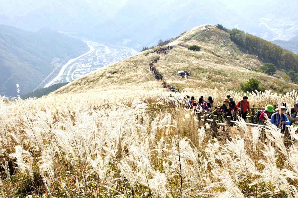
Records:
[[[200,46],[200,52],[191,52],[177,47],[175,50],[179,52],[176,52],[175,55],[174,53],[170,54],[167,57],[167,63],[161,65],[164,70],[161,70],[162,68],[159,70],[163,74],[174,74],[175,70],[188,70],[192,73],[192,79],[184,80],[182,84],[180,80],[177,81],[176,77],[171,78],[173,81],[169,81],[169,83],[175,85],[175,81],[180,90],[187,87],[194,88],[197,85],[209,88],[224,86],[233,91],[240,91],[240,84],[246,83],[254,77],[260,80],[261,88],[272,89],[278,93],[285,94],[297,88],[296,84],[282,78],[285,73],[277,72],[277,77],[270,77],[251,71],[252,69],[260,70],[263,65],[258,57],[239,50],[237,45],[231,41],[228,33],[215,26],[210,26],[210,28],[211,31],[200,34],[194,40],[184,43],[187,46]],[[196,31],[200,32],[203,29],[204,26],[194,28],[183,34],[177,41],[184,42],[185,38],[190,38],[196,34]],[[173,41],[169,45],[175,45],[178,43],[177,41]],[[158,65],[156,67],[158,68]]]

